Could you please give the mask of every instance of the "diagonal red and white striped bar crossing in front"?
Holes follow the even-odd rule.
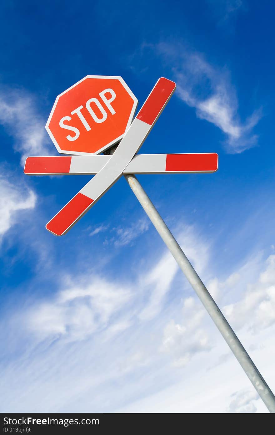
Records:
[[[161,77],[157,81],[112,157],[101,171],[46,224],[47,230],[58,236],[66,234],[81,216],[113,186],[139,151],[175,89],[176,83],[171,80]]]

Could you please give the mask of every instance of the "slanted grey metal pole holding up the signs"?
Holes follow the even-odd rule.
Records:
[[[274,394],[268,387],[267,383],[258,371],[252,359],[249,357],[242,343],[239,341],[239,338],[235,335],[235,332],[229,325],[228,321],[219,310],[218,305],[215,303],[214,299],[208,292],[202,280],[199,278],[199,275],[182,251],[182,248],[179,246],[171,231],[162,220],[159,212],[152,204],[152,201],[143,190],[135,175],[124,175],[124,177],[128,181],[129,186],[136,195],[152,224],[156,228],[156,231],[158,231],[160,237],[175,258],[176,262],[179,264],[179,267],[182,269],[182,272],[185,274],[196,294],[199,296],[202,304],[205,306],[205,309],[208,311],[209,315],[219,329],[226,343],[229,345],[229,348],[232,350],[233,354],[244,369],[246,375],[252,382],[252,385],[258,392],[259,396],[262,398],[262,401],[265,403],[266,407],[270,412],[275,413]]]

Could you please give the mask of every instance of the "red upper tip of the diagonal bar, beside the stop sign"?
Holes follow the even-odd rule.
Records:
[[[168,103],[169,98],[176,89],[176,83],[161,77],[155,87],[152,89],[151,94],[143,104],[142,108],[137,114],[137,119],[140,119],[146,124],[152,125],[158,118],[162,109]]]

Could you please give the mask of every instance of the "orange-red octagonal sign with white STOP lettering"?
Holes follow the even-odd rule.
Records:
[[[46,123],[62,154],[99,154],[122,139],[137,99],[122,77],[86,76],[56,97]]]

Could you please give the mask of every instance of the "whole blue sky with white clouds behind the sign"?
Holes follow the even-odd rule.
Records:
[[[122,76],[139,107],[175,80],[141,152],[217,152],[219,170],[139,181],[274,391],[273,3],[0,8],[1,411],[266,412],[126,181],[57,238],[46,222],[89,177],[23,163],[57,154],[46,120],[87,74]]]

